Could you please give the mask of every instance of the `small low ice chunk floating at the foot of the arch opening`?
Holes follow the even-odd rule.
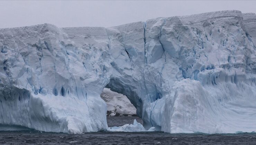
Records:
[[[142,124],[138,123],[136,119],[134,119],[133,124],[125,124],[124,126],[114,126],[109,127],[107,131],[110,132],[154,132],[156,131],[155,127],[150,127],[146,130]]]

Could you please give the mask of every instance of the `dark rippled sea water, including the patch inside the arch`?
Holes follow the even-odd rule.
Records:
[[[108,126],[132,124],[136,116],[107,117]],[[163,132],[94,132],[84,134],[47,133],[35,130],[0,131],[0,144],[250,144],[256,145],[256,133],[238,134],[168,134]]]

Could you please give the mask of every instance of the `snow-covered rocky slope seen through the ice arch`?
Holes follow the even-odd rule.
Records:
[[[107,103],[108,116],[136,115],[136,108],[125,95],[104,88],[100,97]]]

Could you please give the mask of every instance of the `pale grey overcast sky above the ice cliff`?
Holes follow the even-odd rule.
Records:
[[[0,1],[0,28],[102,26],[220,10],[256,13],[256,1]]]

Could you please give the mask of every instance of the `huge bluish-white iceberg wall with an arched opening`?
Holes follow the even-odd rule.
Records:
[[[107,87],[128,97],[146,129],[256,131],[254,13],[3,28],[0,49],[0,129],[107,129]]]

